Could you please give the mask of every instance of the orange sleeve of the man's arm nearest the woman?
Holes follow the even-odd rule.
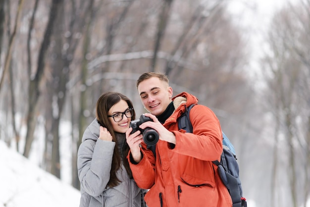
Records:
[[[131,152],[128,153],[128,162],[132,176],[139,188],[150,189],[155,183],[155,156],[151,150],[142,150],[142,159],[139,163],[133,163]]]

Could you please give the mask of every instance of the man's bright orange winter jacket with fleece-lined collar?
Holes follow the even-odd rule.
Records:
[[[176,97],[184,97],[187,102],[178,106]],[[197,105],[190,111],[193,133],[179,131],[177,118],[185,111],[185,104],[197,104],[198,100],[185,92],[176,97],[176,110],[163,124],[175,134],[176,145],[159,140],[156,158],[143,145],[143,158],[138,164],[128,156],[137,185],[150,189],[145,196],[148,207],[232,207],[228,190],[212,163],[222,153],[217,117],[208,107]]]

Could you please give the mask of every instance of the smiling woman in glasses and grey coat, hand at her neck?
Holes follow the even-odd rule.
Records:
[[[104,93],[96,118],[85,130],[78,150],[80,207],[144,207],[144,191],[132,178],[125,132],[135,119],[132,102],[115,92]]]

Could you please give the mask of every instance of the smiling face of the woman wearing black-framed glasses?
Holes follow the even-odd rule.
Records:
[[[107,112],[107,115],[115,115],[114,118],[115,120],[121,119],[119,122],[115,122],[113,117],[109,117],[111,125],[113,127],[113,130],[115,132],[119,132],[119,133],[125,133],[127,131],[127,129],[129,128],[129,124],[131,121],[131,117],[128,118],[128,110],[129,106],[127,104],[126,101],[121,100],[118,103],[114,104],[110,110]],[[125,111],[127,111],[126,115],[125,115]],[[121,116],[123,116],[123,118],[121,118]]]

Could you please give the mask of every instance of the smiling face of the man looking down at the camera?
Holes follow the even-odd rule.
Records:
[[[144,107],[155,116],[162,114],[172,101],[172,88],[157,77],[142,81],[138,92]]]

